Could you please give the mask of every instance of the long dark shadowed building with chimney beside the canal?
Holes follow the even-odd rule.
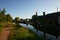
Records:
[[[43,12],[42,16],[34,15],[31,22],[38,22],[39,25],[45,26],[57,26],[60,24],[60,12],[49,13],[47,15]]]

